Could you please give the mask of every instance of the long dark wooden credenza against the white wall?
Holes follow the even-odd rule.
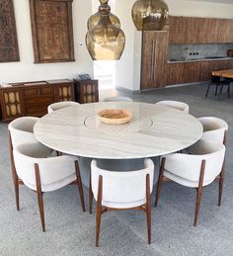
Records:
[[[0,85],[2,120],[41,117],[54,102],[74,100],[73,82],[68,79]]]

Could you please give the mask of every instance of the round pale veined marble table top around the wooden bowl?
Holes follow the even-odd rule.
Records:
[[[103,124],[98,112],[126,109],[132,120]],[[156,104],[103,102],[52,112],[36,124],[35,135],[48,147],[68,154],[105,159],[159,156],[192,145],[202,134],[193,116]]]

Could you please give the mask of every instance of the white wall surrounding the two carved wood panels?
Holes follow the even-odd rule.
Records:
[[[21,60],[0,63],[0,83],[74,78],[78,73],[93,75],[93,61],[85,45],[87,19],[92,10],[91,0],[73,1],[75,62],[34,64],[29,0],[14,0],[14,6]]]

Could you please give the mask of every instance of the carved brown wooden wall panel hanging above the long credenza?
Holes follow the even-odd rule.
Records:
[[[30,0],[35,63],[74,61],[73,0]]]

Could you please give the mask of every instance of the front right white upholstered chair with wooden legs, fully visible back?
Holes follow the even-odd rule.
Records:
[[[172,153],[162,157],[157,184],[155,207],[158,206],[162,182],[172,180],[196,189],[194,226],[196,225],[203,187],[215,179],[219,182],[218,206],[221,205],[224,181],[225,146],[200,139],[187,149],[187,153]]]

